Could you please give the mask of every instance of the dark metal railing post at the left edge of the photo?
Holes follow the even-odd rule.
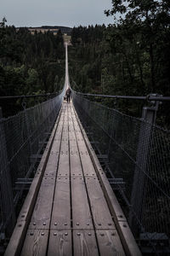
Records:
[[[2,108],[0,107],[0,208],[2,218],[0,219],[0,231],[7,236],[11,235],[15,224],[14,198],[11,177],[8,167],[8,154],[5,140],[5,132]],[[0,215],[1,217],[1,215]],[[2,223],[1,223],[2,222]]]

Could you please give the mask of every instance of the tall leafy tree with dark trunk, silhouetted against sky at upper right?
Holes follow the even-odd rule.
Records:
[[[117,21],[118,25],[127,26],[127,32],[132,27],[136,27],[137,30],[133,34],[136,31],[140,34],[138,38],[140,47],[150,55],[150,92],[153,92],[157,87],[156,62],[161,58],[159,55],[157,59],[157,43],[169,31],[170,3],[167,0],[112,0],[112,6],[113,8],[106,10],[105,14],[114,15],[116,19],[116,13],[119,12],[122,16]],[[137,48],[136,53],[138,53]],[[141,66],[139,69],[140,79],[144,84]]]

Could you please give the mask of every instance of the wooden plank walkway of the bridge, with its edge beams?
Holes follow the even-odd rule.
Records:
[[[72,103],[63,103],[5,255],[140,255]]]

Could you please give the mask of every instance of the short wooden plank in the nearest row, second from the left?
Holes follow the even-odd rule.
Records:
[[[71,256],[72,241],[71,230],[50,231],[48,241],[48,256]]]

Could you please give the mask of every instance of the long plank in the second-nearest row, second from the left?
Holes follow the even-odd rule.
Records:
[[[71,190],[68,177],[58,177],[54,192],[51,230],[71,229]]]

